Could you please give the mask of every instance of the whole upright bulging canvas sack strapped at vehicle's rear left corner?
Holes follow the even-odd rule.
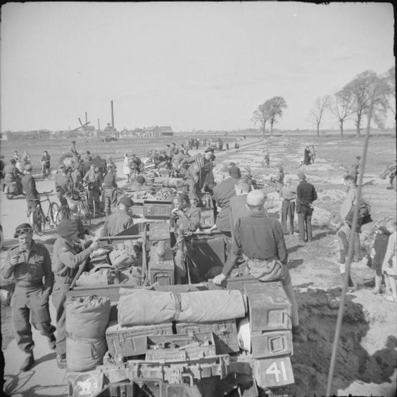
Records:
[[[103,296],[73,298],[65,303],[65,315],[68,370],[87,371],[101,365],[107,350],[111,300]]]

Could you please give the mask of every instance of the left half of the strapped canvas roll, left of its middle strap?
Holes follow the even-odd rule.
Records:
[[[175,317],[175,298],[172,292],[120,288],[118,301],[120,325],[163,324]]]

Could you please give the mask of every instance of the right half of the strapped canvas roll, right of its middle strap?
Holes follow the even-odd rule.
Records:
[[[237,289],[180,294],[179,322],[210,322],[245,317],[246,301]]]

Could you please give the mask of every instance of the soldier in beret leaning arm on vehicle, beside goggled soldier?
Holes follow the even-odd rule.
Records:
[[[55,275],[52,303],[56,310],[56,361],[58,367],[66,366],[65,300],[66,292],[77,275],[80,265],[89,254],[99,248],[98,239],[78,241],[76,220],[62,220],[56,227],[58,238],[53,244],[52,270]]]

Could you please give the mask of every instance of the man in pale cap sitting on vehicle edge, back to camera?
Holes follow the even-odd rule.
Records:
[[[282,227],[277,220],[265,213],[265,194],[260,190],[250,191],[246,203],[251,213],[237,220],[233,232],[233,245],[222,273],[213,279],[214,284],[222,284],[227,279],[241,253],[246,258],[249,274],[261,282],[280,281],[291,301],[292,334],[295,342],[305,341],[299,327],[298,303],[291,283]]]

